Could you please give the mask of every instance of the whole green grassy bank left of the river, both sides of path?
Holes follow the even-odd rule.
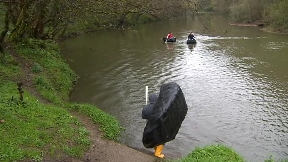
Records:
[[[10,46],[0,64],[0,161],[41,161],[45,154],[81,158],[91,143],[89,132],[69,111],[90,116],[104,138],[117,141],[122,128],[114,117],[93,105],[67,102],[76,74],[55,42],[28,40]],[[23,86],[23,101],[18,80],[31,86]],[[40,102],[28,88],[50,103]]]

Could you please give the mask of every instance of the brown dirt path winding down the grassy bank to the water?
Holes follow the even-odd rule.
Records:
[[[13,49],[9,49],[14,58],[19,62],[22,76],[16,80],[21,80],[23,88],[26,88],[32,95],[37,97],[42,103],[50,104],[49,101],[45,100],[34,88],[33,77],[35,74],[31,72],[32,63],[28,60],[23,59]],[[98,130],[98,125],[94,124],[88,117],[81,115],[76,112],[71,112],[77,117],[86,129],[90,132],[89,138],[92,144],[85,156],[82,159],[73,158],[62,154],[61,158],[51,158],[49,155],[45,155],[43,158],[44,162],[157,162],[163,161],[163,159],[153,156],[152,153],[144,153],[126,145],[116,143],[104,138],[101,138],[102,133]],[[30,160],[24,160],[28,162]]]

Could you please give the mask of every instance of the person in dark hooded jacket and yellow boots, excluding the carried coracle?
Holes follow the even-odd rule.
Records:
[[[155,119],[154,119],[155,117],[153,116],[152,112],[153,112],[153,108],[154,108],[154,106],[155,106],[155,104],[156,104],[157,98],[158,98],[158,97],[157,97],[157,95],[156,95],[155,93],[151,94],[151,95],[149,96],[149,104],[143,107],[142,115],[141,115],[141,116],[142,116],[142,119],[148,120],[147,123],[149,123],[149,121],[155,120]],[[161,138],[161,134],[159,134],[159,132],[156,131],[156,132],[154,133],[154,137],[153,137],[153,138],[156,139],[156,140],[158,140],[158,139]],[[161,144],[161,145],[156,146],[156,147],[154,148],[154,150],[155,150],[154,155],[157,156],[157,157],[159,157],[159,158],[164,158],[164,154],[161,154],[161,152],[162,152],[162,150],[163,150],[163,147],[164,147],[164,143]]]

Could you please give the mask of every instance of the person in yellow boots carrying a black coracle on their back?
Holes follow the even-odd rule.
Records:
[[[147,123],[142,142],[146,148],[154,148],[154,155],[161,154],[166,142],[174,140],[187,114],[187,104],[181,88],[176,83],[163,84],[159,96],[149,96],[149,104],[143,107],[142,119]]]

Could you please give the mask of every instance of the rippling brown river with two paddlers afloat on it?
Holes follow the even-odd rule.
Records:
[[[126,127],[122,142],[144,148],[145,86],[181,86],[188,112],[163,153],[179,158],[196,146],[222,143],[249,161],[288,156],[288,37],[238,27],[216,16],[185,18],[66,39],[63,57],[80,76],[70,101],[88,102]],[[168,32],[176,43],[163,43]],[[186,45],[189,32],[197,45]],[[73,60],[73,61],[71,61]]]

